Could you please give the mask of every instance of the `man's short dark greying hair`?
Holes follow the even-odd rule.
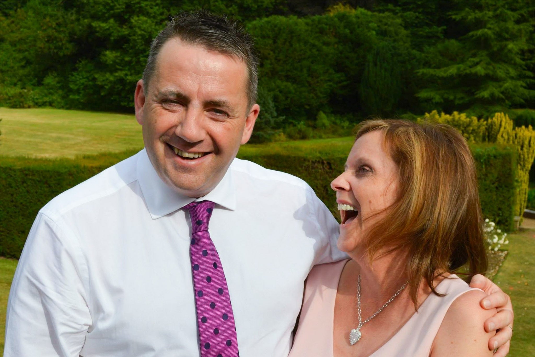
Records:
[[[180,12],[167,22],[150,45],[149,58],[143,71],[143,86],[148,88],[156,71],[156,62],[162,46],[175,37],[188,44],[199,45],[220,54],[237,57],[247,65],[248,108],[256,103],[258,89],[258,56],[254,48],[253,36],[246,33],[241,25],[224,16],[216,16],[208,11]],[[145,89],[147,90],[147,89]]]

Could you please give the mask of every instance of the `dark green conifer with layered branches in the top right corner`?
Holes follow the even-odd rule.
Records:
[[[533,6],[522,1],[473,1],[450,13],[467,33],[438,43],[430,67],[418,70],[427,85],[418,96],[445,110],[478,115],[535,100]]]

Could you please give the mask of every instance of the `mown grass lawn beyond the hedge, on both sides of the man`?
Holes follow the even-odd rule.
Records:
[[[0,107],[0,155],[37,158],[74,158],[122,153],[143,148],[141,125],[134,115],[52,108]],[[353,137],[247,144],[240,154],[346,155]]]

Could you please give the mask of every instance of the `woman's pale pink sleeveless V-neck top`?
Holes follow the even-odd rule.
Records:
[[[288,357],[332,357],[334,302],[338,282],[347,260],[316,265],[308,276],[303,308],[294,344]],[[435,288],[446,294],[429,295],[406,324],[371,356],[429,356],[431,345],[452,302],[475,290],[455,275]]]

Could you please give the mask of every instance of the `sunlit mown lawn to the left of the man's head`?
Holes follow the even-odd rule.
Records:
[[[0,108],[0,155],[69,157],[143,148],[134,115]]]

